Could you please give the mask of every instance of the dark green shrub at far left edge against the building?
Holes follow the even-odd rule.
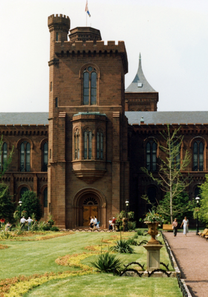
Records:
[[[0,184],[0,218],[4,218],[6,222],[14,221],[13,213],[15,211],[15,203],[9,195],[8,187]]]

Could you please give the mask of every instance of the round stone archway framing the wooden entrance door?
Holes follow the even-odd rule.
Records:
[[[90,216],[96,215],[100,227],[106,228],[106,198],[94,188],[80,190],[72,201],[73,226],[88,227]]]

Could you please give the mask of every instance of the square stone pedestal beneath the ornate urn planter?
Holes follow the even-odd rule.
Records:
[[[160,249],[164,245],[144,245],[147,250],[147,270],[153,271],[155,269],[160,269]]]

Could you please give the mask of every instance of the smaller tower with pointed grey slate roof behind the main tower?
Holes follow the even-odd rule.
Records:
[[[157,111],[159,94],[146,80],[142,71],[141,54],[139,67],[132,83],[125,90],[125,111]]]

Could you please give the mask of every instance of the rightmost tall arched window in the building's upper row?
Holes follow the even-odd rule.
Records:
[[[201,140],[194,142],[193,146],[193,171],[204,170],[204,143]]]

